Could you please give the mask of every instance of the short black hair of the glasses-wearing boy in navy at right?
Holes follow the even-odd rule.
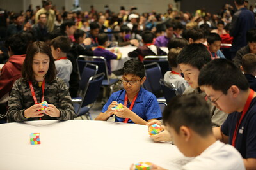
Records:
[[[199,86],[211,86],[227,94],[227,90],[236,85],[240,90],[248,90],[249,84],[242,71],[227,59],[214,59],[204,66],[198,77]]]

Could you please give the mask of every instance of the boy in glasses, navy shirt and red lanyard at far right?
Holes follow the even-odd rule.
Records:
[[[241,153],[246,169],[255,169],[256,93],[241,70],[228,60],[212,60],[201,69],[198,85],[228,115],[221,127],[213,128],[214,136]]]

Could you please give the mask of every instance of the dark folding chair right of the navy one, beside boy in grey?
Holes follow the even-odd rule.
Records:
[[[173,97],[179,95],[178,90],[176,89],[175,85],[173,85],[173,83],[168,83],[168,82],[164,81],[163,79],[160,79],[159,83],[163,89],[164,98],[166,100],[166,103],[168,103],[170,101],[170,99],[172,99]]]

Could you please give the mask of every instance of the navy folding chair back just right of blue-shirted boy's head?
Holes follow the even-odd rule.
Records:
[[[160,99],[164,99],[163,96],[163,91],[161,88],[161,85],[159,83],[159,80],[163,78],[161,74],[161,69],[159,67],[159,64],[157,62],[152,62],[150,64],[145,65],[145,71],[146,71],[146,81],[145,81],[145,89],[151,90],[153,94],[156,95],[156,97],[160,97]],[[149,87],[149,89],[147,88]]]

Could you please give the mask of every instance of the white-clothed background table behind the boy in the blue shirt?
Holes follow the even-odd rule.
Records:
[[[137,48],[136,46],[118,47],[118,49],[122,53],[122,58],[120,60],[111,60],[111,70],[115,71],[115,70],[118,70],[118,69],[122,69],[123,66],[124,66],[125,61],[131,59],[131,57],[128,57],[128,53],[132,52],[136,48]],[[109,48],[109,49],[112,49],[112,48]],[[168,48],[167,47],[161,47],[161,50],[168,53]]]

